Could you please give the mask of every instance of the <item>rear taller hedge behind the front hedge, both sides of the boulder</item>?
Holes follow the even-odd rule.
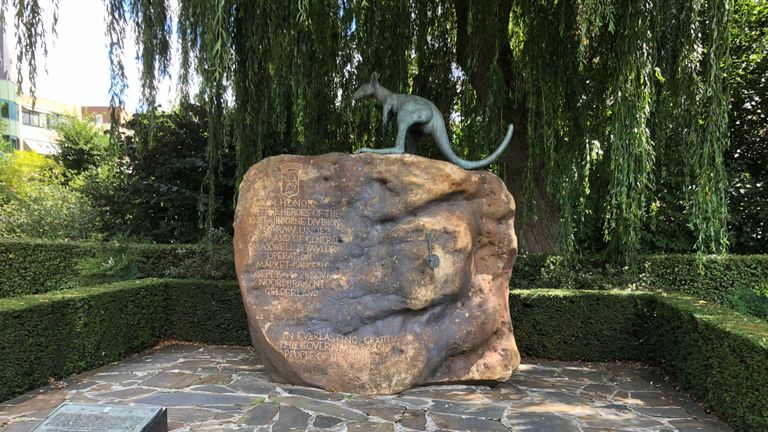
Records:
[[[235,280],[231,245],[0,240],[0,298],[145,277]],[[768,255],[641,257],[639,270],[596,258],[521,255],[513,289],[677,291],[768,319]]]

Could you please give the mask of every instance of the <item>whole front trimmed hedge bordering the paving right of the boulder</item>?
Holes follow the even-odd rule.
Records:
[[[524,356],[661,366],[733,427],[768,430],[768,323],[671,293],[514,290]]]

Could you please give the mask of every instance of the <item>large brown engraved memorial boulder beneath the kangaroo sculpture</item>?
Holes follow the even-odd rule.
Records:
[[[235,265],[271,375],[367,394],[509,378],[520,363],[514,215],[497,176],[418,156],[254,165],[240,186]]]

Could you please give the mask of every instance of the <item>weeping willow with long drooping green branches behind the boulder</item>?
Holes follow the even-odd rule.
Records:
[[[377,71],[441,107],[464,158],[487,155],[515,124],[494,170],[526,220],[524,251],[551,249],[557,234],[565,252],[632,261],[670,208],[688,247],[727,248],[730,0],[104,2],[114,105],[126,37],[138,42],[149,111],[178,46],[180,92],[209,111],[209,189],[228,128],[239,176],[274,154],[387,145],[378,109],[350,100]],[[42,6],[13,3],[34,86]]]

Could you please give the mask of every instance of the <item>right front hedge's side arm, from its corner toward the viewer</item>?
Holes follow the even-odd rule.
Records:
[[[768,324],[704,302],[654,296],[648,361],[740,430],[768,430]]]

